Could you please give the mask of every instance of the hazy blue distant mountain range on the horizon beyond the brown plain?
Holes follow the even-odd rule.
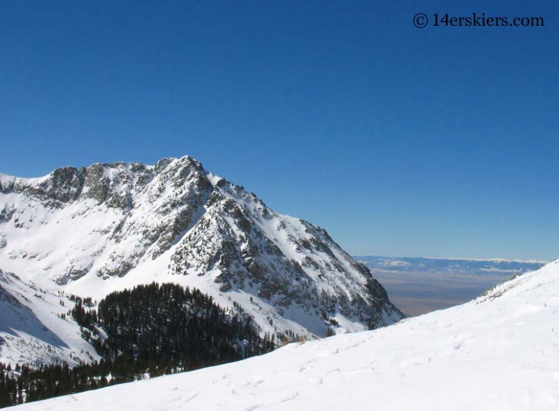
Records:
[[[412,271],[419,273],[460,274],[472,276],[512,276],[534,271],[542,267],[541,261],[515,260],[466,260],[426,257],[379,257],[376,255],[354,255],[372,272]]]

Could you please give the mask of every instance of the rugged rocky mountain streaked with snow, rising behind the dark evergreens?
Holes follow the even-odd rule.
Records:
[[[190,157],[0,174],[0,268],[21,287],[94,299],[152,281],[189,285],[240,304],[263,332],[324,336],[402,317],[325,230],[277,214]]]

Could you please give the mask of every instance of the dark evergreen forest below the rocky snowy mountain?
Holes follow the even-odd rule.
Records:
[[[226,310],[189,287],[139,285],[109,294],[98,306],[92,299],[71,300],[75,305],[68,315],[103,359],[73,368],[0,364],[0,408],[224,364],[275,348],[275,336],[261,336],[238,304]]]

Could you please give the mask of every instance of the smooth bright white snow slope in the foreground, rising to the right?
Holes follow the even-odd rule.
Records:
[[[558,410],[559,260],[454,308],[18,410]]]

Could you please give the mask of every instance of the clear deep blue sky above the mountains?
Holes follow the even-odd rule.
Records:
[[[545,27],[416,29],[416,13]],[[0,172],[190,155],[354,254],[559,257],[556,1],[3,1]]]

